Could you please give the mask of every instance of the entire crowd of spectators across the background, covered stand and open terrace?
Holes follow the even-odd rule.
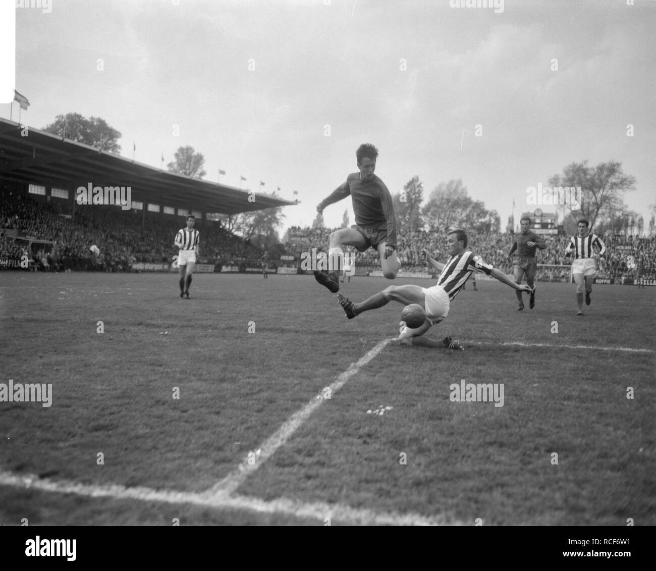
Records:
[[[142,217],[141,211],[125,212],[121,209],[77,207],[75,215],[64,214],[58,203],[33,200],[9,193],[0,201],[0,257],[15,258],[30,255],[36,266],[43,270],[100,270],[108,272],[130,271],[135,262],[170,263],[176,253],[173,237],[184,226],[180,217]],[[231,234],[220,224],[197,224],[201,232],[199,263],[222,263],[242,266],[259,261],[260,247]],[[328,250],[329,228],[300,228],[287,231],[282,251],[300,257],[302,252]],[[16,236],[17,235],[17,236]],[[25,238],[52,242],[52,247],[33,243],[34,251],[25,249]],[[642,268],[647,279],[656,277],[656,237],[600,236],[607,253],[598,264],[600,278],[626,279]],[[18,239],[16,239],[18,238]],[[514,241],[510,233],[468,234],[468,249],[478,253],[487,263],[512,273],[507,254]],[[570,236],[546,236],[546,249],[538,251],[541,264],[538,278],[547,281],[567,281],[571,258],[565,257]],[[96,245],[98,251],[92,251]],[[423,270],[420,252],[428,249],[435,259],[448,258],[445,237],[441,232],[400,230],[397,252],[404,270]],[[630,258],[633,257],[633,260]],[[272,257],[276,260],[277,255]],[[633,263],[634,262],[634,263]],[[379,254],[373,249],[356,254],[356,265],[378,268]]]

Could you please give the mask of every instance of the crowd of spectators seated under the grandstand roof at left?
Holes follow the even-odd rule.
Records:
[[[201,232],[199,263],[259,259],[260,248],[230,234],[218,223],[197,224]],[[0,201],[0,255],[20,257],[27,253],[7,230],[20,238],[54,242],[52,248],[37,244],[28,253],[45,270],[129,271],[134,262],[171,263],[176,252],[173,239],[184,219],[146,217],[141,211],[77,206],[74,217],[64,214],[59,203],[5,194]],[[91,251],[96,245],[100,253]]]

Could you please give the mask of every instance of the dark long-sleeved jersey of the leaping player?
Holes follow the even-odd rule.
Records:
[[[338,186],[333,194],[321,201],[321,209],[351,195],[356,224],[363,228],[387,228],[387,245],[396,248],[396,216],[392,195],[387,186],[376,175],[370,180],[360,180],[360,173],[352,173],[346,182]]]

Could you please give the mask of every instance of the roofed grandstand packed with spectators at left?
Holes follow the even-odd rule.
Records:
[[[76,190],[89,185],[123,187],[123,196],[129,187],[131,204],[80,205]],[[155,169],[0,118],[1,268],[20,269],[28,255],[30,267],[42,270],[167,270],[173,237],[189,214],[203,236],[201,263],[245,268],[262,251],[225,230],[216,215],[295,203]]]

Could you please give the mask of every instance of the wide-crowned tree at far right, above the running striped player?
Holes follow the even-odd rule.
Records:
[[[594,227],[598,219],[609,221],[626,208],[623,194],[636,189],[636,179],[625,175],[622,163],[613,159],[596,167],[588,167],[588,161],[583,161],[567,165],[562,175],[549,179],[549,186],[580,186],[581,214],[590,221],[590,227]]]

